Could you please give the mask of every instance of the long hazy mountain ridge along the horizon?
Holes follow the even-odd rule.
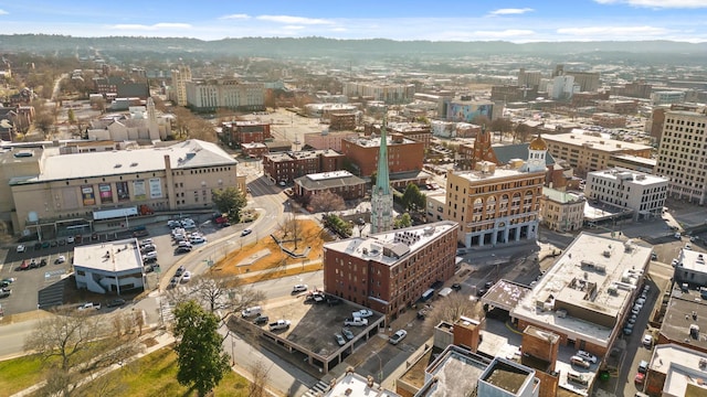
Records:
[[[265,56],[298,58],[331,56],[339,58],[376,57],[475,57],[485,55],[519,55],[602,58],[613,61],[699,64],[707,60],[707,43],[673,41],[601,41],[537,42],[516,44],[494,42],[434,42],[336,40],[325,37],[243,37],[203,41],[186,37],[73,37],[46,34],[0,35],[1,52],[85,53],[89,49],[117,55],[120,53],[191,54],[202,56]]]

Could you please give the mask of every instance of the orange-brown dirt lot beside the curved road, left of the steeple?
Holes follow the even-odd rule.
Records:
[[[314,221],[297,219],[296,223],[296,232],[293,232],[293,227],[283,227],[291,232],[285,235],[282,230],[277,230],[273,235],[282,240],[281,246],[283,248],[294,254],[303,255],[302,258],[293,258],[286,255],[274,238],[262,236],[257,243],[243,246],[241,249],[229,254],[214,266],[214,270],[226,275],[241,275],[246,282],[254,282],[320,269],[321,247],[329,240],[329,235]],[[296,248],[292,238],[293,235],[298,236]],[[288,265],[302,265],[302,267],[285,269]],[[251,271],[262,270],[271,271],[247,277]]]

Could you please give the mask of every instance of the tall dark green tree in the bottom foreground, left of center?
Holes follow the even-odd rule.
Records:
[[[217,332],[219,318],[189,300],[177,305],[175,321],[177,382],[205,396],[230,371],[229,357]]]

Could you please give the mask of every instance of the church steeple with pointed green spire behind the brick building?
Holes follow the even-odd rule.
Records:
[[[371,233],[388,232],[393,227],[393,195],[390,192],[390,171],[388,169],[388,136],[386,117],[380,129],[378,151],[378,175],[371,192]]]

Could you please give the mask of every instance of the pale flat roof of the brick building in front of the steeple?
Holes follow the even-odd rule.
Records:
[[[402,257],[421,249],[450,229],[456,229],[456,222],[442,221],[378,233],[365,238],[352,237],[327,243],[324,247],[325,249],[346,253],[361,259],[376,260],[380,264],[392,266]]]

